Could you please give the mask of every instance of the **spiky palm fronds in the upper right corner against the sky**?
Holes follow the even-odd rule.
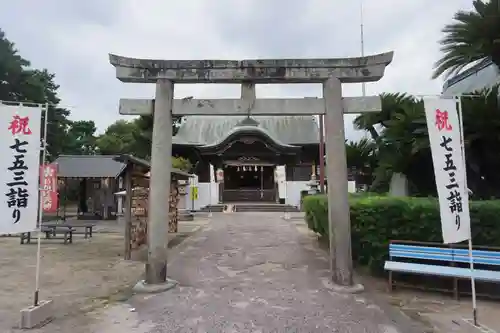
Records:
[[[473,11],[459,11],[443,28],[443,57],[434,65],[433,79],[458,73],[468,64],[491,59],[500,68],[500,0],[474,0]]]

